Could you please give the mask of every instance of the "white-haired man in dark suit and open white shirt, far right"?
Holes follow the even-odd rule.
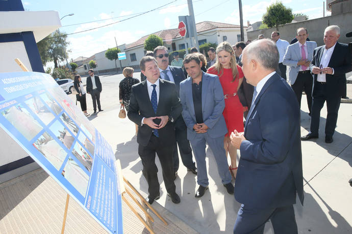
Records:
[[[310,132],[301,140],[319,137],[320,110],[326,101],[328,114],[325,124],[325,142],[333,142],[341,96],[346,85],[346,73],[351,71],[351,54],[346,44],[338,43],[340,28],[330,25],[324,31],[324,44],[314,49],[310,65],[314,74],[313,103]]]

